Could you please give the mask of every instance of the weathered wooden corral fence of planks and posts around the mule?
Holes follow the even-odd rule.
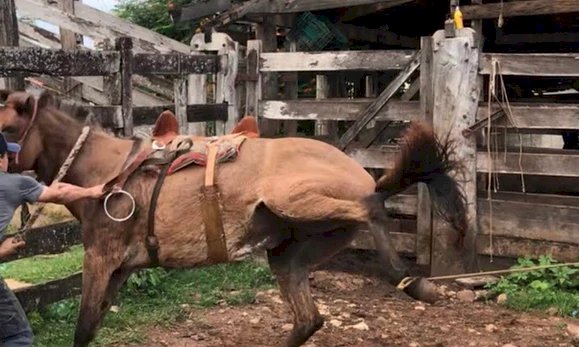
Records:
[[[272,52],[268,41],[253,40],[242,47],[222,33],[213,33],[209,40],[196,35],[187,46],[82,4],[75,12],[81,21],[40,0],[16,0],[16,4],[28,15],[38,16],[39,6],[47,9],[43,19],[64,30],[117,38],[114,47],[105,45],[103,51],[66,51],[57,47],[56,38],[20,23],[20,42],[41,42],[44,48],[0,49],[0,76],[34,75],[50,85],[61,83],[55,76],[70,76],[81,83],[85,101],[100,104],[89,109],[105,127],[130,135],[135,126],[151,125],[169,108],[182,130],[204,133],[204,122],[216,121],[215,133],[221,134],[233,127],[240,114],[253,114],[265,136],[313,136],[337,145],[374,172],[390,168],[398,151],[391,142],[399,130],[407,122],[424,120],[458,144],[466,168],[460,179],[469,202],[471,243],[467,247],[483,260],[482,267],[493,267],[489,256],[495,265],[527,255],[552,254],[563,261],[579,257],[579,198],[554,194],[559,192],[556,188],[541,189],[577,179],[579,155],[513,147],[517,141],[505,148],[487,147],[505,136],[518,138],[518,133],[579,130],[579,105],[512,102],[510,116],[515,122],[511,123],[508,117],[500,117],[496,103],[489,110],[486,91],[497,75],[496,62],[499,74],[505,76],[578,77],[577,54],[482,52],[477,45],[480,38],[468,30],[423,37],[420,51],[296,52],[290,44],[285,52]],[[107,24],[98,24],[102,22]],[[123,37],[133,36],[130,33],[136,39]],[[104,81],[90,77],[94,75],[105,76]],[[214,76],[214,85],[209,75]],[[314,92],[298,97],[298,84],[312,80]],[[208,104],[209,99],[214,103]],[[493,130],[490,139],[479,133],[488,124]],[[514,180],[514,184],[510,188],[503,184],[502,190],[495,185],[497,191],[491,189],[489,199],[489,176],[491,182]],[[521,177],[525,190],[517,181]],[[450,245],[452,233],[433,213],[424,185],[388,204],[398,215],[390,230],[400,253],[415,257],[432,275],[464,268],[464,259]],[[61,223],[32,230],[27,243],[9,260],[64,252],[80,243],[80,233],[76,222]],[[374,248],[365,233],[353,246]],[[33,310],[79,294],[81,276],[16,293],[25,309]]]

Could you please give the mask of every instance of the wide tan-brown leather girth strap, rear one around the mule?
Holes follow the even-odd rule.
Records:
[[[207,166],[205,168],[205,184],[201,187],[201,212],[205,225],[207,243],[207,259],[213,263],[229,260],[223,221],[221,219],[220,194],[215,185],[215,167],[217,164],[218,143],[207,145]]]

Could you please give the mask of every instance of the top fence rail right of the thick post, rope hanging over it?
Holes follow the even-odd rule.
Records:
[[[497,59],[502,75],[578,77],[577,53],[485,53],[480,73],[491,73],[492,59]]]

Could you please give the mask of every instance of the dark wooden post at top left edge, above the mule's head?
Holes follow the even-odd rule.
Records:
[[[0,1],[0,47],[18,47],[18,20],[14,0]],[[0,88],[24,90],[24,77],[0,78]]]

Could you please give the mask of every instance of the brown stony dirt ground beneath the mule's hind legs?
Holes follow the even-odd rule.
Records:
[[[565,328],[579,324],[576,319],[451,298],[424,304],[396,291],[368,264],[368,259],[341,256],[312,275],[312,291],[326,322],[306,347],[579,346]],[[351,272],[360,267],[362,273]],[[456,289],[450,284],[448,290]],[[184,323],[152,329],[142,346],[280,346],[290,329],[288,309],[272,289],[258,293],[252,305],[191,309]]]

